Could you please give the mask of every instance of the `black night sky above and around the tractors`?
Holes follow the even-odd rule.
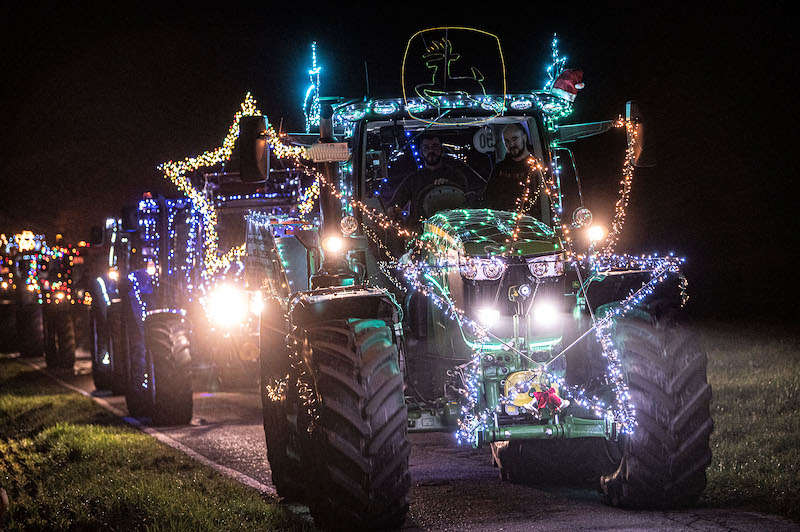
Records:
[[[245,92],[273,124],[302,127],[310,42],[323,93],[400,94],[407,38],[435,25],[497,34],[510,91],[540,88],[553,32],[586,88],[570,121],[615,118],[627,99],[648,120],[619,250],[688,257],[701,315],[797,317],[793,155],[796,20],[783,5],[546,9],[497,4],[371,9],[131,12],[44,6],[2,17],[0,231],[68,239],[143,191],[175,193],[158,163],[218,146]],[[790,93],[790,89],[792,92]],[[590,207],[608,219],[624,136],[578,148]]]

